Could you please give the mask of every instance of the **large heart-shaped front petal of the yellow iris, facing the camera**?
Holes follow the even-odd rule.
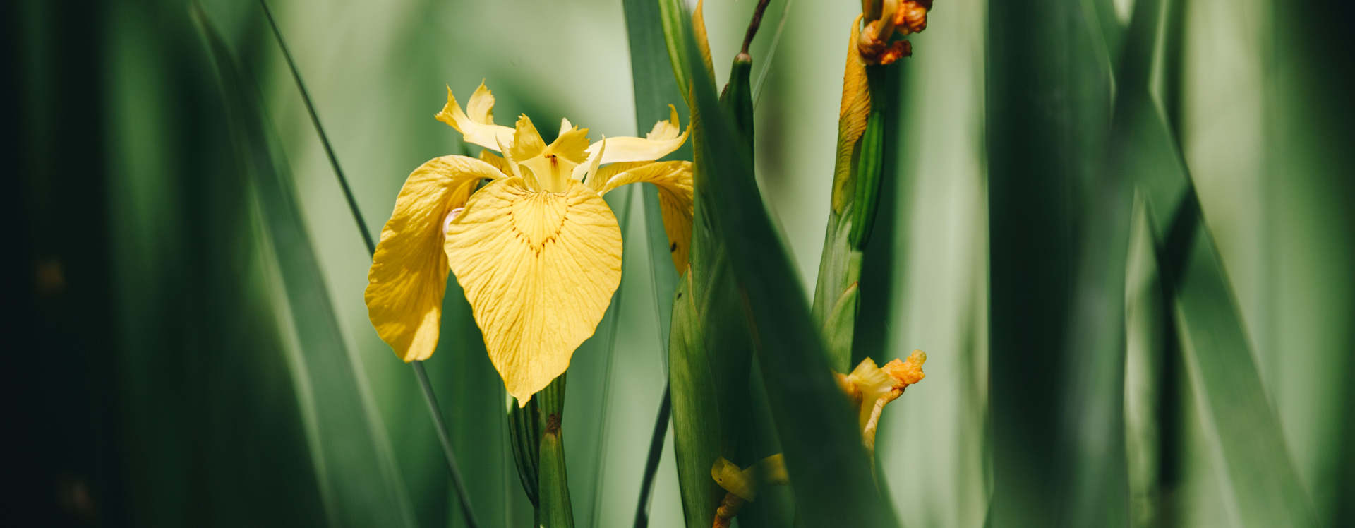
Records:
[[[569,367],[621,283],[617,217],[577,181],[566,192],[491,183],[451,222],[444,248],[519,406]]]

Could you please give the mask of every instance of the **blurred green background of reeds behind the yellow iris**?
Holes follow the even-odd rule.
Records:
[[[786,1],[772,0],[752,53],[756,79],[786,14],[756,100],[756,165],[767,208],[813,291],[844,46],[860,5],[799,0],[786,9]],[[706,5],[717,84],[753,4]],[[1262,401],[1279,417],[1286,449],[1272,456],[1297,471],[1317,525],[1355,525],[1355,34],[1335,1],[1161,5],[1165,42],[1152,85],[1240,307]],[[11,176],[0,211],[12,249],[3,259],[11,279],[0,321],[8,363],[0,445],[14,519],[4,524],[363,525],[346,517],[351,505],[333,504],[328,483],[362,475],[355,486],[383,497],[370,505],[383,524],[462,525],[415,378],[367,321],[370,257],[263,12],[255,1],[203,7],[257,81],[341,328],[343,349],[331,357],[351,361],[354,375],[316,376],[313,357],[298,351],[295,321],[329,315],[283,291],[188,3],[4,3],[0,153]],[[649,127],[635,127],[619,0],[271,7],[374,233],[413,168],[473,153],[432,119],[449,85],[465,100],[485,80],[500,123],[516,114],[538,123],[569,118],[593,138]],[[1008,287],[1007,275],[992,275],[1011,259],[1039,261],[1043,246],[1041,234],[1027,245],[1007,237],[1038,221],[995,225],[989,214],[1000,203],[1016,218],[1065,207],[1054,211],[1064,214],[1054,227],[1077,232],[1095,200],[1079,175],[1053,206],[991,195],[989,183],[1020,190],[1076,165],[1023,165],[1038,156],[1012,154],[1003,141],[1026,130],[1027,149],[1050,145],[1062,160],[1076,157],[1068,149],[1088,119],[1111,116],[1114,92],[1112,76],[1077,69],[1095,54],[1087,34],[1125,31],[1133,12],[1134,0],[938,0],[927,31],[911,38],[856,344],[858,355],[881,363],[915,348],[928,353],[925,382],[889,408],[877,444],[906,527],[1049,525],[1039,516],[995,516],[1003,490],[1034,506],[1061,504],[1042,489],[1058,477],[1023,482],[1024,468],[1004,472],[1003,454],[1030,449],[1033,467],[1066,471],[1061,460],[1076,459],[1051,455],[1053,439],[1045,448],[1009,441],[1069,426],[1039,417],[1062,412],[1076,393],[1058,389],[1066,382],[1058,372],[1031,367],[1012,378],[991,366],[1069,355],[1038,332],[1012,334],[991,322],[1060,311],[1068,303],[1054,298],[1068,292],[1041,290],[1049,278]],[[1056,73],[1023,84],[1023,72]],[[1012,111],[1024,95],[1028,104]],[[564,431],[580,527],[631,523],[667,379],[659,313],[668,294],[656,294],[641,198],[608,195],[625,226],[625,279],[569,375]],[[1230,432],[1211,425],[1201,374],[1161,353],[1179,348],[1172,325],[1161,324],[1173,309],[1163,305],[1141,206],[1134,218],[1122,294],[1127,519],[1135,527],[1253,525],[1237,504],[1234,462],[1220,454],[1220,435]],[[993,341],[992,328],[1005,333]],[[1001,361],[989,361],[991,343],[1026,337],[1019,353],[995,349]],[[481,523],[530,525],[503,384],[455,282],[427,368]],[[360,405],[327,409],[316,399],[325,383]],[[325,413],[354,417],[347,433],[362,436],[366,451],[331,447],[336,440],[321,435],[328,429],[317,418]],[[650,519],[680,527],[667,447]]]

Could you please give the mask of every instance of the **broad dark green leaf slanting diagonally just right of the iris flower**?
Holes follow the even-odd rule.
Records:
[[[669,50],[679,58],[676,68],[683,64],[680,57],[699,51],[686,20],[665,12],[664,22],[669,45],[682,43],[687,50]],[[832,379],[798,275],[763,208],[751,153],[720,110],[710,76],[698,64],[688,61],[686,66],[686,76],[694,80],[690,100],[699,123],[694,134],[696,214],[710,218],[713,234],[729,253],[730,291],[740,295],[753,332],[752,348],[785,448],[797,513],[806,525],[897,525],[875,490],[860,432]],[[694,242],[694,253],[696,249]],[[702,321],[710,321],[709,315]],[[676,393],[673,403],[676,413]]]

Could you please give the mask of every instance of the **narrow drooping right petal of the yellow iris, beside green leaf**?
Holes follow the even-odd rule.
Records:
[[[611,141],[607,142],[611,150]],[[599,194],[629,183],[652,183],[659,187],[659,206],[664,215],[664,232],[668,233],[668,253],[679,272],[687,268],[691,255],[691,192],[692,176],[690,161],[660,161],[645,164],[622,172],[607,180]]]

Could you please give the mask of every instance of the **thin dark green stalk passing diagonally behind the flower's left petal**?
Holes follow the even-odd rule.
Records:
[[[343,188],[344,198],[348,200],[348,211],[352,213],[354,222],[358,223],[358,232],[362,234],[362,241],[367,245],[367,253],[377,255],[377,244],[371,238],[371,233],[367,232],[367,223],[362,218],[362,210],[358,207],[358,200],[352,195],[352,188],[348,187],[348,179],[344,177],[343,168],[339,167],[339,158],[335,156],[333,146],[329,144],[329,135],[325,134],[325,129],[320,125],[320,116],[316,114],[316,106],[310,102],[310,92],[306,91],[306,84],[301,81],[301,72],[297,69],[297,62],[291,60],[291,51],[287,50],[287,42],[282,38],[282,30],[278,27],[278,22],[272,18],[272,11],[268,9],[267,0],[259,0],[259,5],[263,7],[264,15],[268,18],[268,26],[272,28],[274,38],[278,39],[278,47],[282,49],[282,56],[287,60],[287,69],[291,70],[291,79],[297,83],[297,89],[301,92],[301,100],[306,103],[306,112],[310,114],[310,123],[316,127],[316,134],[320,135],[320,144],[325,148],[325,154],[329,157],[329,167],[333,168],[335,176],[339,179],[339,187]],[[470,508],[470,494],[466,493],[466,485],[461,479],[461,470],[457,467],[457,455],[451,449],[451,437],[447,435],[447,424],[443,422],[442,410],[438,406],[438,395],[434,394],[432,384],[428,383],[428,374],[424,372],[423,361],[411,361],[411,367],[415,370],[415,376],[419,378],[419,387],[423,389],[424,401],[428,403],[428,410],[432,413],[434,424],[438,429],[438,440],[442,441],[442,454],[447,459],[447,471],[451,474],[451,483],[457,489],[457,498],[461,500],[461,510],[466,517],[466,525],[470,528],[478,528],[480,524],[476,523],[476,513]]]

